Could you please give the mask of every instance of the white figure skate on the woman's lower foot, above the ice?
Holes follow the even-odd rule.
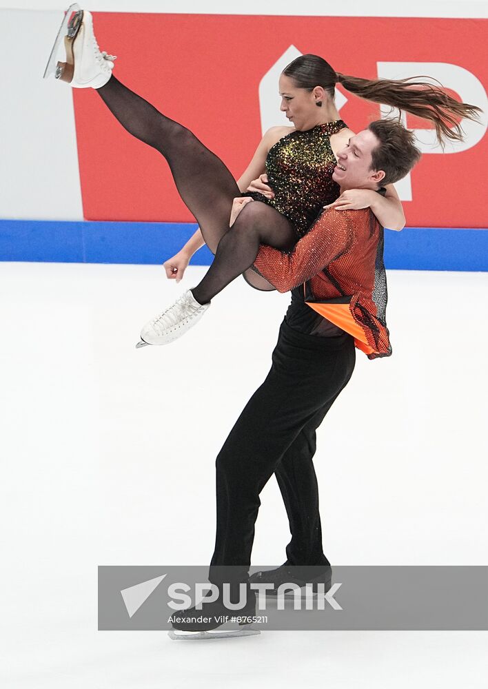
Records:
[[[190,289],[187,289],[172,306],[145,324],[136,349],[146,345],[167,345],[168,342],[181,338],[201,319],[210,303],[199,304]]]

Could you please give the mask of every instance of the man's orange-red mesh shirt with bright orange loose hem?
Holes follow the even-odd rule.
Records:
[[[354,336],[369,359],[391,355],[383,227],[369,208],[325,210],[293,251],[261,245],[254,268],[280,292],[305,283],[307,305]]]

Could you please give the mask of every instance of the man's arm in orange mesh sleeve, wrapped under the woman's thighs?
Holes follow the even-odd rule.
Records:
[[[354,223],[369,214],[330,208],[315,221],[294,250],[285,254],[262,244],[254,266],[279,292],[287,292],[316,276],[354,242]]]

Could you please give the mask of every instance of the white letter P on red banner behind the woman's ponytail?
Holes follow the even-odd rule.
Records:
[[[480,121],[473,122],[464,119],[461,123],[465,132],[463,141],[448,141],[445,149],[440,147],[436,138],[435,129],[413,130],[417,144],[423,153],[459,153],[467,151],[480,141],[488,126],[488,99],[485,89],[479,79],[459,67],[445,62],[378,62],[378,79],[408,79],[417,75],[427,74],[431,79],[437,79],[440,83],[459,95],[463,103],[478,105],[483,111],[480,113]],[[433,81],[434,85],[437,85]],[[382,117],[390,115],[398,116],[398,110],[393,112],[389,105],[381,105]],[[406,125],[407,116],[403,112],[402,121]],[[403,201],[411,200],[410,175],[395,183],[398,196]]]

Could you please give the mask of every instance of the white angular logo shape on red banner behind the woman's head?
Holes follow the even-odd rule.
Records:
[[[280,96],[278,96],[278,80],[281,72],[290,62],[300,57],[303,53],[290,45],[283,55],[276,60],[274,65],[266,72],[259,83],[259,109],[261,111],[261,132],[264,134],[270,127],[289,127],[290,122],[285,113],[280,111]],[[340,110],[347,103],[347,98],[336,89],[336,108]]]

